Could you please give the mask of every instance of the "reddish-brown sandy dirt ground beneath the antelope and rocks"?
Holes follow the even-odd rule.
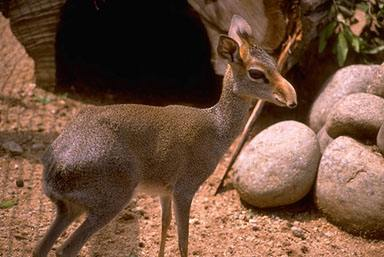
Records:
[[[82,106],[35,86],[32,61],[0,19],[0,144],[12,141],[22,147],[18,153],[0,148],[0,203],[8,203],[0,208],[1,257],[31,256],[52,221],[55,210],[41,189],[39,158]],[[268,210],[244,205],[230,185],[214,196],[226,159],[194,198],[189,256],[384,256],[384,241],[353,236],[330,224],[311,196]],[[159,240],[158,199],[139,194],[85,245],[80,256],[157,256]],[[55,256],[54,251],[49,256]],[[174,220],[166,256],[178,256]]]

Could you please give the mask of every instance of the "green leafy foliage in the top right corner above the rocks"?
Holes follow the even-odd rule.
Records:
[[[329,22],[319,36],[319,52],[332,45],[339,66],[350,51],[367,60],[384,51],[384,0],[333,0]]]

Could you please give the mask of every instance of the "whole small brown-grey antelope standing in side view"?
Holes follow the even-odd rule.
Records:
[[[57,215],[34,257],[46,257],[60,234],[85,212],[85,221],[56,252],[77,256],[85,242],[127,205],[135,189],[160,196],[159,256],[164,256],[172,200],[180,254],[188,255],[193,196],[241,132],[251,101],[296,106],[294,88],[255,44],[243,18],[232,18],[229,36],[220,37],[217,51],[228,67],[221,98],[213,107],[87,107],[52,143],[43,156],[43,180]]]

